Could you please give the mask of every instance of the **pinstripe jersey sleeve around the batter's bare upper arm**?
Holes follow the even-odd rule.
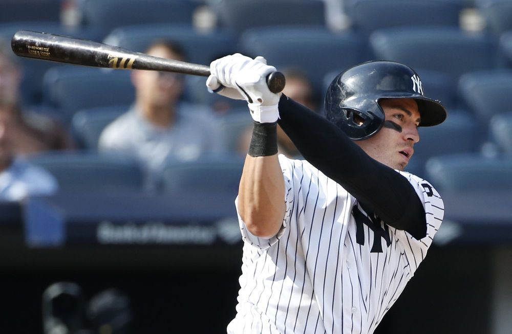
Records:
[[[286,158],[283,154],[279,155],[279,163],[281,164],[281,169],[283,171],[283,177],[285,179],[285,198],[283,199],[286,203],[286,212],[285,216],[283,217],[283,225],[281,226],[281,229],[278,231],[278,233],[270,238],[260,238],[255,235],[253,235],[247,228],[245,227],[245,222],[242,220],[242,217],[240,217],[240,214],[238,213],[238,196],[234,201],[235,206],[237,207],[237,215],[238,215],[238,221],[240,225],[240,231],[242,233],[242,240],[244,242],[250,244],[253,247],[256,247],[258,249],[268,249],[270,246],[272,246],[274,243],[278,242],[278,240],[283,236],[283,234],[286,231],[287,226],[289,225],[289,219],[291,210],[293,207],[293,197],[294,197],[294,189],[293,189],[293,164],[291,161]]]

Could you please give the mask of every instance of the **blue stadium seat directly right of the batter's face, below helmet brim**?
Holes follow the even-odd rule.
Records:
[[[420,141],[414,145],[412,165],[406,170],[424,176],[426,161],[436,155],[476,152],[484,140],[475,118],[463,110],[448,110],[446,120],[437,126],[420,127]]]

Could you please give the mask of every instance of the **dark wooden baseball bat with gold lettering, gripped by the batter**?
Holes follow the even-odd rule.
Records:
[[[210,67],[174,59],[150,56],[108,44],[28,30],[12,36],[12,51],[20,56],[68,64],[124,70],[152,70],[183,74],[210,75]],[[279,93],[285,86],[281,72],[270,73],[267,85],[272,93]]]

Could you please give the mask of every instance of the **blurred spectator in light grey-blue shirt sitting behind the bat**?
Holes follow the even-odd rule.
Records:
[[[184,60],[182,49],[169,41],[153,43],[145,53]],[[216,126],[209,109],[180,101],[183,75],[133,71],[135,103],[101,133],[99,150],[130,154],[157,175],[169,158],[194,160],[217,150]]]

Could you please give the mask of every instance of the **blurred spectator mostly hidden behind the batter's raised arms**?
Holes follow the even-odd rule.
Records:
[[[313,96],[313,86],[305,73],[298,69],[284,70],[283,74],[286,78],[286,85],[283,94],[290,99],[301,103],[311,110],[317,111],[316,102]],[[246,154],[249,149],[249,143],[252,136],[252,126],[250,126],[241,136],[238,150],[242,154]],[[288,158],[297,158],[300,152],[297,150],[291,139],[278,125],[278,151],[286,155]]]

